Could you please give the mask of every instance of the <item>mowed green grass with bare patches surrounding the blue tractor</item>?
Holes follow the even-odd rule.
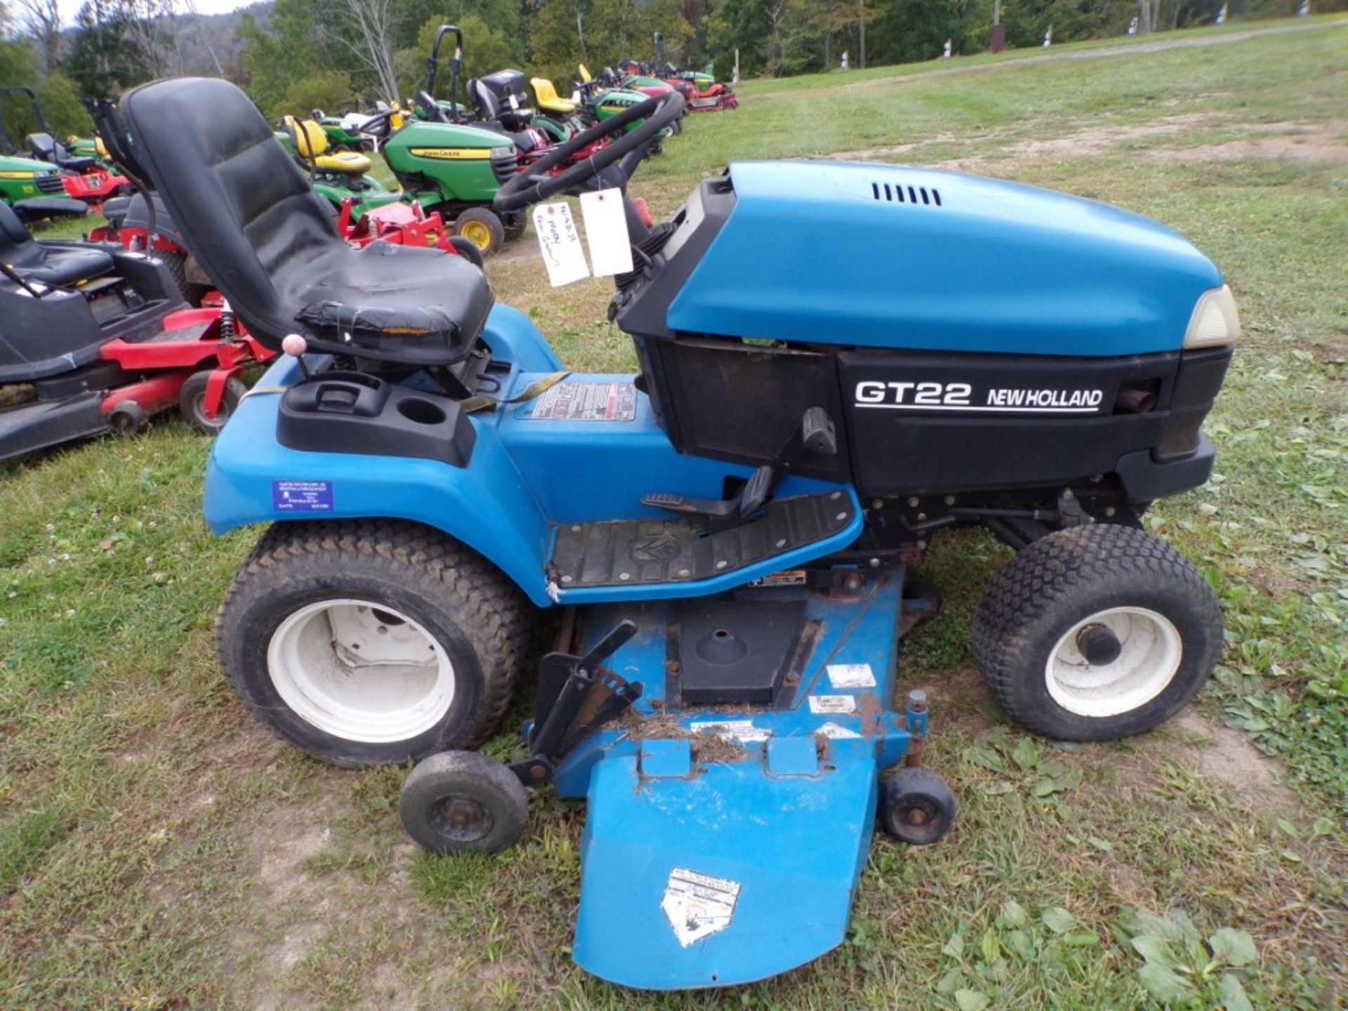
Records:
[[[1246,328],[1206,426],[1217,473],[1147,516],[1227,617],[1217,677],[1180,720],[1092,747],[1002,723],[968,643],[1007,551],[938,539],[922,572],[946,608],[900,679],[931,693],[956,829],[925,849],[878,837],[847,942],[803,969],[619,989],[569,958],[582,806],[539,793],[518,848],[429,859],[398,825],[400,770],[324,767],[244,714],[212,623],[257,531],[209,535],[209,443],[166,415],[0,469],[0,1007],[1343,1007],[1344,24],[747,82],[737,112],[692,117],[634,183],[663,214],[731,159],[909,162],[1119,204],[1208,252]],[[554,291],[535,253],[528,237],[489,264],[497,297],[568,365],[634,368],[608,283]],[[492,754],[518,754],[530,693]]]

